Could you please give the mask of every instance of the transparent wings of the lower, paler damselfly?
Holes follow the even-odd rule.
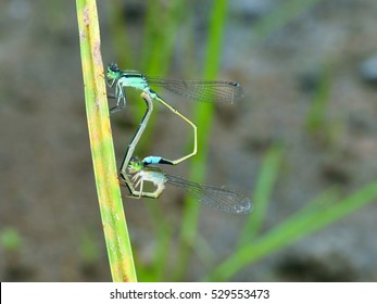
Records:
[[[241,194],[223,188],[193,182],[180,176],[165,174],[165,177],[167,178],[166,183],[183,188],[187,194],[209,207],[231,213],[249,213],[252,210],[250,200]]]

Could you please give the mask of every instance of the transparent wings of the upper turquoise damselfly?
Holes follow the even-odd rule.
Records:
[[[188,100],[200,102],[228,102],[243,97],[238,83],[212,80],[161,79],[146,76],[148,84],[164,88]]]

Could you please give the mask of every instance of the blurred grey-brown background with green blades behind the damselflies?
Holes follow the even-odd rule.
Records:
[[[254,211],[173,188],[125,199],[139,280],[376,281],[377,2],[98,2],[104,65],[246,91],[214,105],[164,96],[200,132],[199,154],[164,169]],[[0,16],[0,278],[111,281],[75,3],[2,0]],[[118,165],[144,111],[129,101],[111,116]],[[191,130],[155,107],[137,154],[188,153]]]

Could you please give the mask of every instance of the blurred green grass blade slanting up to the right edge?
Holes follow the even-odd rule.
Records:
[[[237,251],[219,264],[204,280],[227,280],[247,265],[353,214],[366,204],[374,203],[377,199],[377,181],[329,205],[334,198],[334,192],[322,195],[319,200],[299,211],[255,242]]]

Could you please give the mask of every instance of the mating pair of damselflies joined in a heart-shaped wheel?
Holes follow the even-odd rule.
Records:
[[[120,169],[121,180],[129,189],[131,195],[136,198],[146,197],[156,199],[164,190],[165,183],[171,183],[183,188],[186,193],[210,207],[233,213],[248,213],[251,211],[252,205],[250,200],[243,195],[223,188],[192,182],[183,177],[168,175],[160,167],[151,166],[152,164],[177,165],[196,155],[198,151],[198,130],[196,124],[162,99],[151,86],[164,88],[188,100],[233,103],[235,99],[243,96],[242,88],[238,83],[161,79],[146,76],[137,71],[122,71],[115,63],[111,63],[108,66],[106,83],[110,87],[115,87],[116,105],[111,109],[112,113],[126,106],[126,87],[142,91],[141,98],[147,105],[141,123],[128,143]],[[177,160],[168,160],[162,156],[147,156],[142,161],[139,161],[134,157],[136,145],[153,111],[153,101],[160,102],[191,126],[193,130],[193,148],[191,153]],[[144,181],[152,182],[156,189],[154,191],[143,191]]]

